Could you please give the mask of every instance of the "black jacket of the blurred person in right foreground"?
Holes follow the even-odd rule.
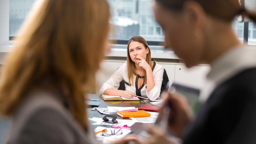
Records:
[[[217,86],[183,140],[184,144],[255,144],[256,68]]]

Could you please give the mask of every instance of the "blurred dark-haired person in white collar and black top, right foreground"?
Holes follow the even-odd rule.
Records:
[[[256,13],[238,0],[155,0],[156,21],[188,68],[207,62],[207,75],[193,120],[190,106],[177,93],[171,103],[169,129],[184,144],[254,144],[256,142],[256,47],[238,40],[232,20],[238,14],[256,22]],[[149,128],[145,144],[174,143],[164,129]]]

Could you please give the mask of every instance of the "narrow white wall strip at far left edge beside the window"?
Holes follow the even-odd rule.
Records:
[[[0,0],[0,46],[9,44],[9,0]]]

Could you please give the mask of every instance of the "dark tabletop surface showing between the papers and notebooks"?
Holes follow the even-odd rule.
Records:
[[[111,107],[135,107],[135,108],[139,108],[143,105],[150,105],[150,103],[143,103],[141,101],[104,101],[101,96],[99,94],[88,94],[90,99],[96,99],[96,100],[102,100],[99,108],[107,108],[107,106],[111,106]],[[141,100],[141,99],[140,99]],[[92,111],[93,107],[91,108],[87,108],[87,115],[89,118],[92,117],[100,117],[102,118],[103,116],[105,116],[105,114],[101,114],[99,111]],[[117,116],[117,115],[116,115]],[[122,118],[120,116],[117,116],[116,118],[118,119],[128,119],[130,120],[130,118]],[[152,124],[152,123],[151,123]],[[131,130],[132,130],[132,134],[138,134],[141,130],[143,130],[144,126],[149,125],[149,124],[144,124],[144,123],[135,123],[131,126]],[[96,128],[97,126],[101,126],[101,125],[92,125],[93,128]],[[104,125],[104,127],[111,127],[108,125]]]

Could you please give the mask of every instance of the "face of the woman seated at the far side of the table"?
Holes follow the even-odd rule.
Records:
[[[134,41],[132,41],[129,44],[129,55],[133,62],[136,63],[138,60],[140,60],[137,58],[137,56],[140,56],[141,58],[146,60],[147,54],[148,54],[148,47],[145,48],[144,44],[140,42],[134,42]]]

